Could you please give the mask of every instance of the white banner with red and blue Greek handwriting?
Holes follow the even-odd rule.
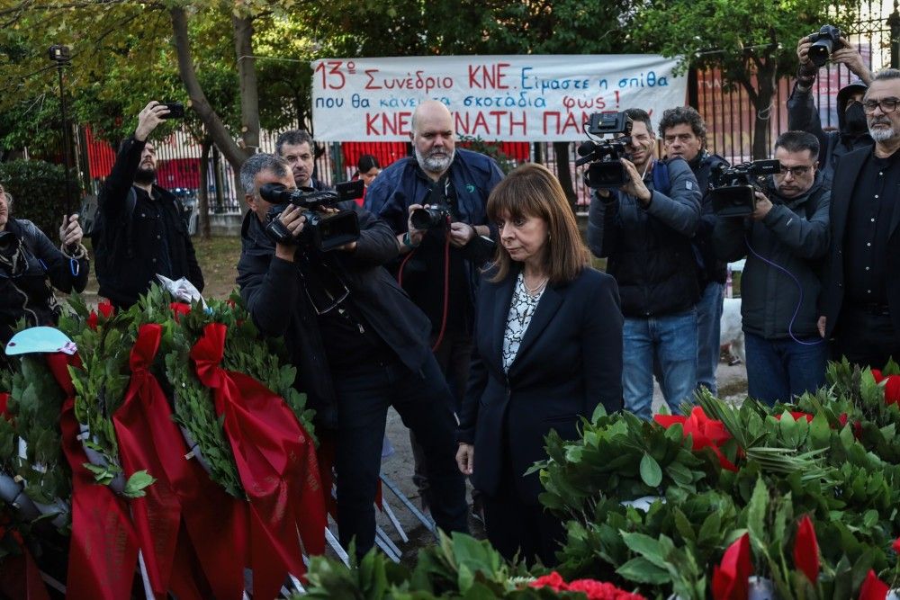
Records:
[[[457,135],[576,141],[591,112],[685,103],[677,59],[649,54],[323,59],[312,63],[312,124],[320,141],[408,141],[416,106],[454,113]]]

